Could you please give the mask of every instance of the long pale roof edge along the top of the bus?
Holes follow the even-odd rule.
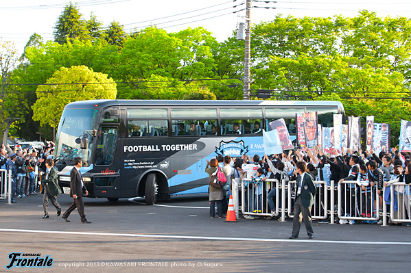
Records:
[[[69,103],[64,109],[102,109],[110,106],[289,106],[289,107],[305,107],[305,106],[318,106],[327,107],[333,106],[342,109],[344,107],[339,101],[196,101],[196,100],[91,100],[91,101],[75,101]]]

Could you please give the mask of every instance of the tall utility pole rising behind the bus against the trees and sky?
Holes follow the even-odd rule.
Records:
[[[251,57],[251,0],[246,0],[246,41],[244,50],[244,101],[250,100],[250,57]]]

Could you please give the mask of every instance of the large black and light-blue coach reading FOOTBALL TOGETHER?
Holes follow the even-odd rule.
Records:
[[[207,193],[207,159],[264,155],[262,129],[283,118],[295,140],[297,113],[317,112],[331,127],[344,114],[336,101],[77,101],[58,125],[56,166],[70,192],[73,159],[90,197],[144,196],[145,203],[177,194]]]

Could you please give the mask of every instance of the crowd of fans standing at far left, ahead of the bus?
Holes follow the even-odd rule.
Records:
[[[16,198],[25,198],[30,195],[39,194],[38,181],[46,172],[45,160],[54,158],[54,143],[46,142],[47,146],[42,148],[10,148],[1,145],[0,168],[12,172],[12,203]],[[5,176],[1,177],[2,185]],[[5,189],[2,188],[4,191]],[[3,192],[1,192],[3,194]]]

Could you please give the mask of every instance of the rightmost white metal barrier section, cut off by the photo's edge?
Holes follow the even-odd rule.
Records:
[[[411,184],[406,184],[404,182],[396,182],[390,185],[390,220],[391,222],[411,222],[411,211],[410,211],[411,192],[410,191],[411,191]],[[384,200],[385,200],[385,196],[384,196]],[[397,211],[395,211],[395,204],[397,204]],[[385,207],[385,204],[384,204],[384,207]]]

